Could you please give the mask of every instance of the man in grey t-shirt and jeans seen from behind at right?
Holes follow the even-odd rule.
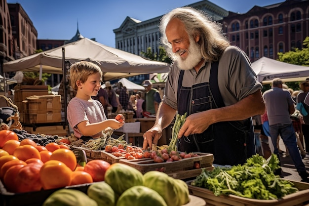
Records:
[[[295,111],[294,101],[290,91],[282,88],[282,84],[283,82],[281,79],[273,79],[271,83],[272,88],[265,91],[263,94],[269,119],[271,142],[274,147],[273,153],[277,155],[280,161],[279,150],[276,144],[278,135],[280,135],[302,181],[309,182],[309,173],[306,171],[298,150],[295,130],[290,119],[291,114]],[[280,175],[281,168],[277,169],[275,174]]]

